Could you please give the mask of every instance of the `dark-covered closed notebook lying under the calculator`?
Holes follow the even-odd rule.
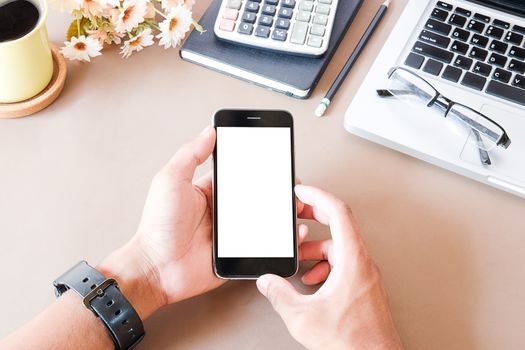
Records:
[[[352,23],[363,0],[340,0],[327,52],[304,57],[221,41],[213,26],[222,0],[214,0],[181,48],[184,60],[296,98],[308,98]]]

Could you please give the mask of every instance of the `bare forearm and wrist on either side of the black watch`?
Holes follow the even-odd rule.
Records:
[[[164,303],[156,286],[156,273],[135,241],[111,254],[97,266],[114,278],[122,294],[142,320]],[[68,291],[44,312],[11,336],[0,341],[2,349],[114,349],[107,329],[74,291]]]

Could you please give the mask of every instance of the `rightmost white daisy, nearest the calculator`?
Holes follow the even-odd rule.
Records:
[[[165,49],[179,45],[190,30],[192,22],[191,11],[185,6],[178,5],[171,9],[166,19],[159,25],[161,31],[157,35],[160,39],[159,45],[164,45]]]

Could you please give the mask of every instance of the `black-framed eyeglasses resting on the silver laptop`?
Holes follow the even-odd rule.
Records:
[[[435,107],[444,113],[446,121],[454,127],[472,133],[468,137],[480,151],[483,164],[490,164],[488,151],[495,147],[510,146],[510,138],[503,127],[486,115],[443,96],[429,82],[402,67],[394,67],[388,73],[388,87],[377,90],[381,97],[395,97],[409,104]]]

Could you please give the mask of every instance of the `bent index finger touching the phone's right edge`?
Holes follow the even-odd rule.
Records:
[[[305,203],[301,216],[329,225],[334,246],[358,247],[361,238],[357,225],[348,206],[343,201],[328,192],[311,186],[296,186],[295,193]]]

